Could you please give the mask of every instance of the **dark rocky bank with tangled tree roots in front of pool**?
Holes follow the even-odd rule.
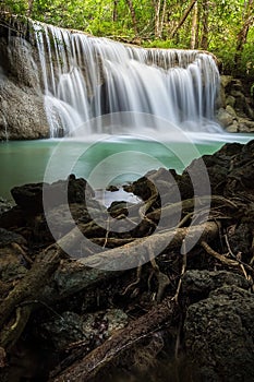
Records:
[[[203,164],[210,206],[193,190]],[[140,203],[108,210],[73,175],[13,189],[0,215],[1,381],[253,381],[253,164],[254,141],[227,144],[182,176],[150,171],[125,186]]]

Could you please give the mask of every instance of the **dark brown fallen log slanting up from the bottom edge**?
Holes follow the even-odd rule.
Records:
[[[110,365],[118,366],[124,355],[135,350],[145,338],[161,329],[167,322],[170,324],[176,312],[176,301],[168,297],[160,305],[155,306],[148,313],[131,322],[123,330],[118,331],[112,337],[102,345],[95,348],[83,359],[74,362],[60,375],[50,379],[53,382],[74,382],[74,381],[94,381],[102,380]],[[131,362],[128,358],[128,362]]]

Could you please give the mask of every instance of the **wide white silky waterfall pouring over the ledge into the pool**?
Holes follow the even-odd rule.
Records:
[[[221,131],[214,120],[219,72],[210,55],[33,27],[51,136],[80,134],[82,124],[84,135],[96,133],[89,120],[119,111],[161,117],[185,131]]]

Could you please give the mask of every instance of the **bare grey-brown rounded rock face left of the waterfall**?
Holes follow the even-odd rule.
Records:
[[[25,38],[0,39],[0,140],[49,136],[36,56]]]

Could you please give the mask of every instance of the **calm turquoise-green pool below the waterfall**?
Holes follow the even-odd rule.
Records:
[[[247,142],[253,135],[202,134],[178,142],[128,135],[95,140],[13,141],[0,144],[0,195],[10,200],[15,186],[65,179],[88,179],[95,189],[131,182],[159,167],[181,172],[195,157],[213,154],[226,142]]]

